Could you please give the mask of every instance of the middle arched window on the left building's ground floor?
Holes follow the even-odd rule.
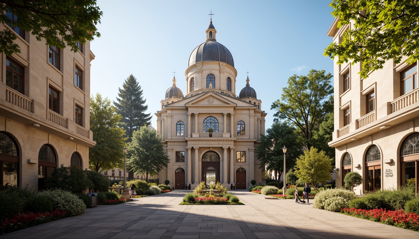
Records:
[[[57,167],[57,156],[48,144],[42,145],[38,154],[38,190],[45,189],[45,180]]]

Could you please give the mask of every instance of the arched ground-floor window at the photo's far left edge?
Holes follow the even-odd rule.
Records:
[[[19,151],[16,141],[6,132],[0,132],[0,188],[17,186],[19,179]]]

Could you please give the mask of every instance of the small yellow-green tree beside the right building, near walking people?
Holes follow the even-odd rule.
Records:
[[[332,170],[332,159],[330,159],[324,151],[318,152],[314,147],[304,150],[304,155],[297,159],[295,164],[295,175],[298,179],[313,185],[314,189],[318,189],[318,184],[325,184],[327,180],[331,180],[330,172]]]

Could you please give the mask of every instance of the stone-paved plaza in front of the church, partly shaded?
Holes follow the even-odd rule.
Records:
[[[419,232],[313,208],[311,200],[310,204],[266,200],[268,196],[237,190],[233,193],[246,205],[179,205],[187,192],[176,190],[138,198],[134,202],[88,208],[83,215],[0,238],[419,239]]]

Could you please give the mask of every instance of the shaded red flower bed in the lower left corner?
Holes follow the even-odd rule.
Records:
[[[68,212],[55,209],[51,213],[18,213],[0,221],[0,234],[25,229],[50,221],[65,218]]]

